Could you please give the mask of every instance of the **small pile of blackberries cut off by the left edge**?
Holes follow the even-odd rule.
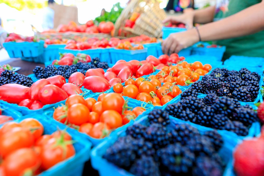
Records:
[[[22,74],[15,74],[15,72],[11,70],[4,70],[0,75],[0,86],[9,83],[31,87],[33,81],[28,76]]]

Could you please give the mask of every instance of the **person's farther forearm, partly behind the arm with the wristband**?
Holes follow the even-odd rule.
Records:
[[[205,9],[194,10],[194,23],[206,24],[214,19],[215,6],[207,7]]]

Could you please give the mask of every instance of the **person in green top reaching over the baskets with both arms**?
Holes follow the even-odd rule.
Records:
[[[184,23],[187,31],[173,33],[163,41],[165,54],[199,41],[226,46],[223,60],[232,55],[264,58],[264,0],[217,0],[215,6],[167,17],[163,22]],[[194,23],[205,24],[193,28]]]

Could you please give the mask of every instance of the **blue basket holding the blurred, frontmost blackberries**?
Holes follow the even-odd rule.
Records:
[[[186,123],[186,122],[179,122],[175,119],[170,118],[171,123],[169,124],[168,128],[173,129],[173,126],[176,124]],[[140,123],[142,125],[148,125],[147,116],[142,117],[139,121],[135,123]],[[107,148],[115,143],[118,137],[125,136],[126,127],[122,127],[116,136],[111,136],[109,139],[103,141],[101,144],[97,145],[91,151],[91,164],[92,167],[99,171],[101,176],[133,176],[133,174],[129,173],[125,169],[119,168],[116,165],[110,163],[106,159],[103,158],[103,155],[106,153]],[[208,130],[200,130],[198,129],[201,134]],[[232,150],[237,145],[239,140],[232,139],[229,136],[221,135],[224,141],[223,147],[219,151],[219,155],[223,159],[224,162],[228,162],[232,157]],[[104,167],[102,167],[102,165]]]

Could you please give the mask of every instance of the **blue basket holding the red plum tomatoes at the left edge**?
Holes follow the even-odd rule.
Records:
[[[81,89],[83,91],[83,93],[81,95],[84,97],[88,96],[91,93],[91,91],[89,91],[87,89],[84,89],[84,88],[81,88]],[[3,100],[0,100],[0,106],[5,106],[7,108],[15,109],[16,111],[22,113],[23,115],[28,115],[28,114],[33,114],[33,113],[41,114],[44,111],[53,110],[54,107],[58,107],[58,106],[60,106],[60,104],[65,104],[65,101],[66,100],[63,100],[63,101],[60,101],[60,102],[54,103],[54,104],[46,104],[43,106],[43,108],[38,109],[38,110],[30,110],[29,108],[27,108],[25,106],[18,106],[18,104],[8,103],[8,102],[3,101]]]

